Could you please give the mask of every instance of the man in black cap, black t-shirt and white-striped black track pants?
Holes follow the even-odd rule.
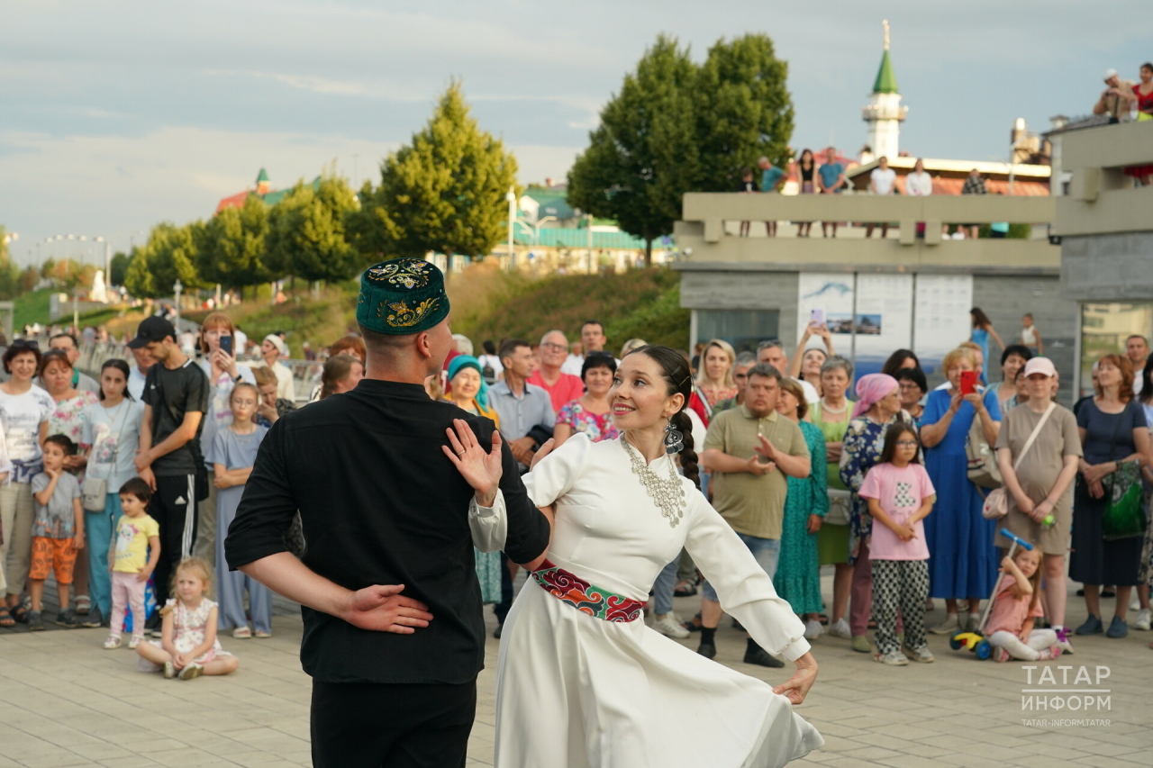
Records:
[[[201,424],[209,409],[209,379],[176,342],[176,329],[163,317],[140,324],[133,349],[148,347],[156,364],[144,379],[144,416],[136,470],[156,490],[149,513],[160,524],[160,560],[156,565],[156,600],[168,597],[176,565],[196,540],[196,474]],[[159,627],[159,613],[149,628]]]

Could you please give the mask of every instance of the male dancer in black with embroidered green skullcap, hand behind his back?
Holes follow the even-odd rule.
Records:
[[[231,567],[304,605],[321,768],[462,766],[484,661],[474,541],[522,564],[548,548],[549,524],[492,422],[424,392],[453,345],[447,317],[432,264],[366,270],[364,378],[272,426],[225,540]],[[498,487],[474,492],[457,470],[454,426],[482,446],[458,454],[491,446]],[[297,510],[301,559],[284,541]]]

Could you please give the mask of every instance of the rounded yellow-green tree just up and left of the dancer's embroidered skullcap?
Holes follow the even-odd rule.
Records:
[[[297,182],[269,211],[267,273],[330,281],[356,274],[364,257],[349,244],[346,221],[357,206],[344,179],[325,175],[312,185]]]

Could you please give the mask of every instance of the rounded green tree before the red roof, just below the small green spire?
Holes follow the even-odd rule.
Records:
[[[273,279],[264,264],[269,206],[249,195],[241,208],[226,208],[204,225],[197,246],[201,278],[227,288],[243,288]]]

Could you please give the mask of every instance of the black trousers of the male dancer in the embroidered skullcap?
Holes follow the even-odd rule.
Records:
[[[312,680],[314,768],[459,768],[476,716],[464,685]]]

